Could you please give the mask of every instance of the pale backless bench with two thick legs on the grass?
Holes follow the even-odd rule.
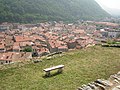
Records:
[[[58,69],[57,72],[61,73],[63,71],[63,68],[64,68],[64,65],[58,65],[58,66],[54,66],[54,67],[51,67],[51,68],[46,68],[43,71],[46,72],[45,76],[50,76],[50,71]]]

